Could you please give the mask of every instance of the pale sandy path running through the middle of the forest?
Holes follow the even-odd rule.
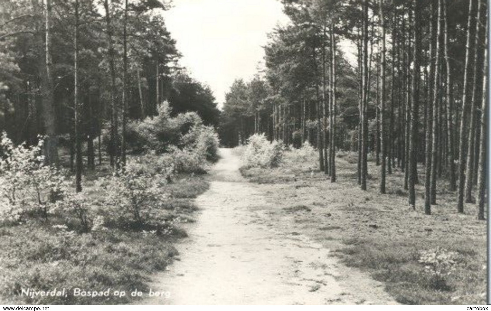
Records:
[[[348,269],[329,250],[271,219],[261,185],[247,182],[230,149],[196,199],[197,222],[177,245],[179,260],[158,274],[150,305],[395,304],[383,286]],[[346,277],[345,274],[349,276]]]

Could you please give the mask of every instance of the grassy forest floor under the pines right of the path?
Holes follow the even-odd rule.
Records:
[[[355,154],[337,154],[335,183],[318,170],[315,156],[299,160],[292,154],[287,152],[278,168],[241,169],[274,207],[267,211],[270,219],[330,249],[345,265],[370,273],[399,303],[486,304],[486,222],[476,220],[476,205],[457,213],[456,193],[439,181],[438,204],[428,216],[423,167],[412,210],[399,169],[387,176],[387,194],[381,195],[380,168],[373,162],[368,190],[362,191]]]

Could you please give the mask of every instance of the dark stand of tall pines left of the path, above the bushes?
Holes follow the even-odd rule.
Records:
[[[93,150],[108,128],[112,158],[122,157],[115,141],[127,120],[156,115],[165,100],[174,115],[195,111],[216,126],[209,87],[178,65],[166,9],[157,0],[1,0],[0,131],[29,144],[43,134],[58,147],[80,134]]]

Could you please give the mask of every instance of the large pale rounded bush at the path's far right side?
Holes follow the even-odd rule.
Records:
[[[264,134],[254,134],[247,140],[243,159],[246,167],[277,167],[283,157],[281,142],[270,142]]]

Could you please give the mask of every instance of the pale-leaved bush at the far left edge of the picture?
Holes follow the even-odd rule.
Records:
[[[36,146],[15,146],[2,134],[0,141],[0,206],[4,220],[19,221],[27,212],[48,217],[56,201],[63,197],[63,175],[44,165],[43,140]]]

